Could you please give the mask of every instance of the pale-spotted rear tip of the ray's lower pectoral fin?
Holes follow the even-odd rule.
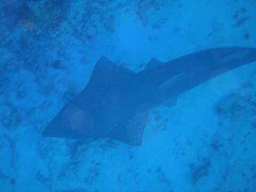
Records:
[[[149,111],[137,113],[129,120],[126,126],[126,142],[129,145],[141,146],[149,113]]]

